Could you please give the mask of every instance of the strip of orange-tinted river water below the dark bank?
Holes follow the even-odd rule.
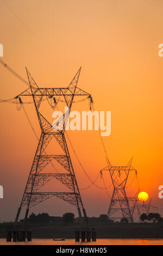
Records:
[[[0,245],[163,245],[163,239],[97,239],[96,242],[75,242],[74,239],[53,241],[53,239],[33,239],[31,242],[6,242],[0,239]]]

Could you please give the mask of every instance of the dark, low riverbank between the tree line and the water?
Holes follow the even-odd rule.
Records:
[[[5,223],[0,223],[0,237],[6,235]],[[90,225],[97,230],[101,239],[162,239],[163,223],[98,223]],[[71,224],[30,224],[35,238],[74,238],[74,230],[79,225]]]

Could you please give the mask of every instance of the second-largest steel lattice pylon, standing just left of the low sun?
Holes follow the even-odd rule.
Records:
[[[127,218],[129,222],[133,222],[133,213],[137,199],[136,197],[127,197],[125,191],[130,170],[136,172],[136,169],[131,167],[132,159],[133,157],[127,166],[112,166],[107,159],[108,166],[102,169],[102,171],[109,170],[112,185],[114,187],[108,210],[108,218],[112,220]],[[131,207],[130,202],[133,203]],[[120,214],[120,212],[122,214]]]

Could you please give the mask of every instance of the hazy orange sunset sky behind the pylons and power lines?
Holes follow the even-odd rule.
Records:
[[[0,2],[0,43],[12,69],[26,78],[24,66],[40,87],[66,87],[82,65],[78,87],[92,94],[95,108],[111,111],[111,136],[104,142],[113,165],[125,165],[134,156],[142,191],[162,207],[162,67],[158,56],[162,38],[160,0],[5,0]],[[14,13],[16,14],[14,14]],[[16,17],[17,16],[17,17]],[[1,98],[9,99],[26,86],[0,66]],[[88,109],[79,103],[73,110]],[[27,106],[39,135],[34,108]],[[36,150],[37,141],[23,111],[0,106],[1,173],[4,187],[0,221],[14,220]],[[92,179],[106,166],[97,132],[70,131],[80,161]],[[28,139],[27,139],[28,138]],[[90,184],[72,156],[79,187]],[[106,185],[110,184],[105,174]],[[97,184],[103,186],[99,179]],[[52,186],[53,187],[53,186]],[[129,194],[135,188],[130,188]],[[111,195],[112,188],[109,189]],[[81,191],[87,215],[108,211],[105,191],[92,186]],[[52,198],[34,212],[62,215],[76,210]]]

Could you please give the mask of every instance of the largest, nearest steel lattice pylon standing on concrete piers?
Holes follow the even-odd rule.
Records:
[[[65,139],[65,127],[66,122],[71,111],[72,103],[74,96],[86,95],[91,97],[89,93],[84,92],[84,90],[79,89],[77,87],[78,79],[80,75],[80,70],[78,70],[77,74],[74,76],[70,85],[66,88],[39,88],[35,83],[33,77],[30,75],[29,71],[26,68],[29,88],[24,92],[16,96],[16,99],[19,99],[22,102],[22,96],[32,96],[35,110],[37,114],[37,118],[39,119],[39,124],[41,127],[41,136],[39,140],[39,144],[37,145],[35,157],[33,160],[32,168],[30,169],[28,181],[26,188],[23,193],[22,201],[20,207],[18,208],[17,215],[15,218],[15,223],[18,221],[18,217],[20,215],[21,209],[23,206],[27,206],[26,215],[25,215],[25,223],[27,220],[29,208],[32,206],[39,204],[53,196],[56,196],[74,206],[78,209],[79,217],[82,217],[82,213],[80,209],[83,209],[84,217],[86,218],[86,212],[82,203],[82,198],[80,196],[76,176],[74,174],[74,169],[71,162],[71,157],[68,151],[66,139]],[[66,102],[67,112],[63,114],[59,121],[51,125],[45,117],[40,113],[40,105],[45,99],[48,97],[49,99],[54,99],[55,105],[56,102],[55,97],[64,97],[64,101]],[[58,126],[63,124],[62,129],[59,129]],[[46,148],[47,145],[51,142],[52,139],[55,139],[59,146],[61,147],[63,154],[47,154]],[[52,152],[53,153],[53,152]],[[52,161],[57,161],[64,169],[65,173],[43,173],[43,169]],[[55,178],[59,180],[62,184],[69,188],[70,192],[38,192],[39,188],[43,185],[47,184],[49,180]]]

